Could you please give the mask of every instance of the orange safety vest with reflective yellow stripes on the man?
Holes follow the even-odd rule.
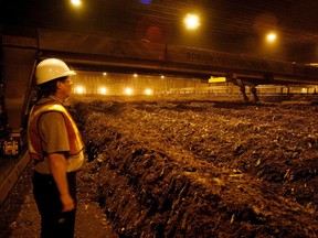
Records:
[[[49,111],[57,111],[63,115],[70,143],[68,155],[78,154],[84,149],[84,143],[76,123],[63,105],[52,100],[44,102],[43,105],[34,105],[30,111],[28,122],[28,145],[30,158],[33,160],[44,160],[43,141],[39,132],[39,120],[43,112]]]

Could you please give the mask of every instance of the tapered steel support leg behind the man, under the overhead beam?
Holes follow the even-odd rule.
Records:
[[[23,127],[36,55],[36,35],[24,36],[19,31],[2,34],[3,100],[11,130],[4,141],[6,155],[18,155],[24,145]]]

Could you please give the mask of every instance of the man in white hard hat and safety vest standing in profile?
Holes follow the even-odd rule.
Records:
[[[39,98],[30,111],[28,144],[34,161],[33,195],[41,214],[41,237],[74,237],[76,171],[84,144],[64,107],[75,73],[57,58],[36,66]]]

